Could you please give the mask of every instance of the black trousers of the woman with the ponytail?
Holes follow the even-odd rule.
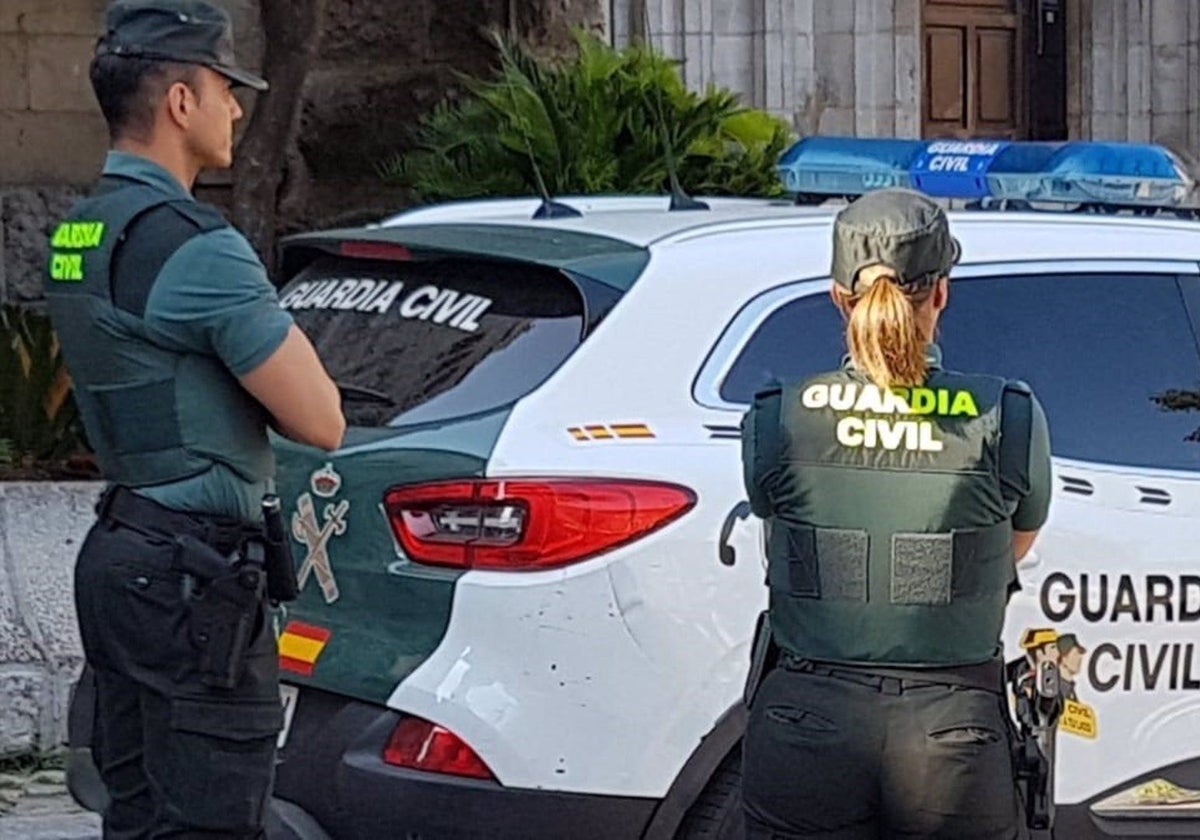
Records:
[[[748,840],[1022,836],[1003,702],[983,689],[785,662],[746,724]]]

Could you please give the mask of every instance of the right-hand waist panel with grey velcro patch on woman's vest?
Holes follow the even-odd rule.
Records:
[[[944,606],[995,592],[997,563],[1009,552],[1008,521],[949,534],[892,536],[892,602]]]

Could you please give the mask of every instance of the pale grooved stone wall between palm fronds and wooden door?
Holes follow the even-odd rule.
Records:
[[[642,0],[613,0],[628,43]],[[920,132],[920,0],[644,0],[650,43],[804,133]]]

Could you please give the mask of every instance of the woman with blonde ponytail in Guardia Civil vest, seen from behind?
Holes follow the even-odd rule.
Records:
[[[780,650],[746,726],[752,839],[1018,836],[1000,635],[1046,518],[1049,436],[1026,385],[942,366],[959,256],[919,193],[842,210],[848,358],[745,418]]]

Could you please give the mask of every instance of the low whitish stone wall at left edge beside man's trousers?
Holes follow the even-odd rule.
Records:
[[[72,599],[96,484],[0,482],[0,757],[66,740],[83,664]]]

